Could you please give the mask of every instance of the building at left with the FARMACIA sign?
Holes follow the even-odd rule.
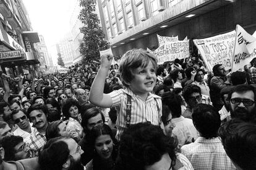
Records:
[[[0,1],[0,65],[11,76],[36,74],[39,64],[34,43],[38,34],[32,32],[30,19],[22,0]]]

